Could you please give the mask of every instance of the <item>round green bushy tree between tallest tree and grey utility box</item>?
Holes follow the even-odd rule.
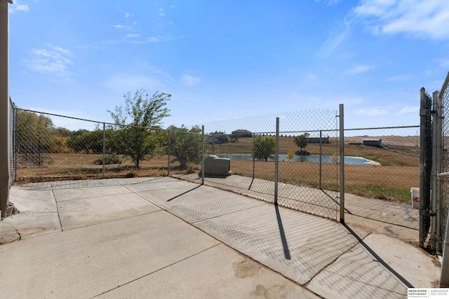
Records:
[[[188,130],[184,125],[181,127],[171,125],[168,130],[170,130],[168,137],[169,154],[175,156],[175,159],[171,162],[180,162],[181,169],[187,169],[190,163],[199,164],[203,148],[201,135],[199,134],[201,129],[195,126]]]

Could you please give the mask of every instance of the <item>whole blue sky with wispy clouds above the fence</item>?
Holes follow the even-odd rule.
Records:
[[[344,104],[345,127],[418,125],[449,70],[447,0],[20,0],[10,95],[112,121],[123,94],[172,95],[168,125]]]

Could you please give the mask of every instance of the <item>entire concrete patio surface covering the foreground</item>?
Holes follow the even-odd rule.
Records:
[[[345,227],[168,177],[20,188],[12,191],[25,212],[0,225],[0,242],[28,236],[0,246],[9,297],[404,298],[407,286],[431,287],[439,277],[427,253],[398,240],[415,220],[394,204],[347,214]],[[59,218],[69,230],[60,231]]]

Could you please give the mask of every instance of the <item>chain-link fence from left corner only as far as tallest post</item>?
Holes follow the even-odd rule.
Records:
[[[337,218],[335,114],[284,113],[276,139],[276,116],[208,123],[203,134],[200,127],[163,130],[16,109],[13,177],[27,183],[181,176],[269,202],[276,193],[284,207]],[[211,159],[225,163],[218,173]]]

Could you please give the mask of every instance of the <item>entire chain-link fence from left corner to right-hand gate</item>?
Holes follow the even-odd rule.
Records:
[[[169,175],[326,218],[339,215],[336,111],[166,130],[15,111],[11,177],[17,183]],[[418,128],[344,130],[346,192],[410,203],[410,188],[419,186]]]

